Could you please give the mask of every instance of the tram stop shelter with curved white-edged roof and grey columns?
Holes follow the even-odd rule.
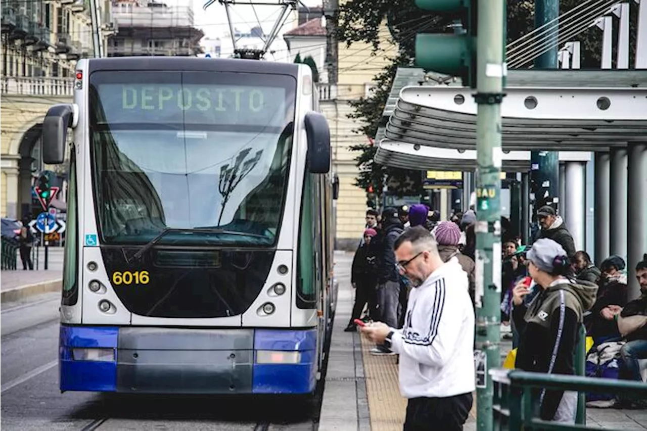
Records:
[[[430,85],[421,69],[398,72],[375,162],[476,170],[474,90]],[[647,252],[647,71],[512,70],[504,93],[494,162],[527,178],[531,150],[560,151],[560,201],[576,247],[584,249],[586,163],[594,153],[596,261],[624,257],[630,292],[638,296],[633,268]]]

